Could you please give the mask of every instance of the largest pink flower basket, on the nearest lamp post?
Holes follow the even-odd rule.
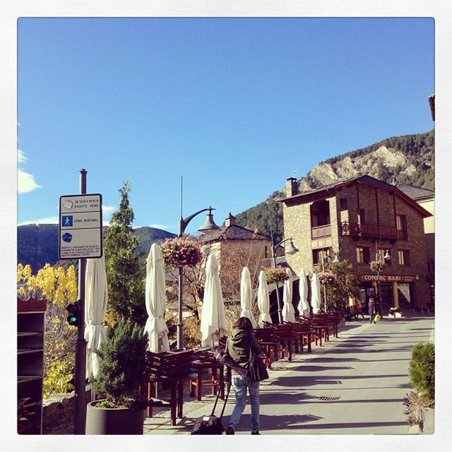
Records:
[[[177,237],[166,239],[160,245],[162,258],[168,267],[189,266],[194,267],[201,262],[201,245],[191,239]]]

